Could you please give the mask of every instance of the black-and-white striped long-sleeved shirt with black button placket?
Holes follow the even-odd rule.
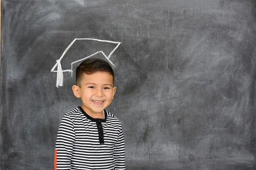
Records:
[[[103,112],[104,119],[94,119],[77,107],[63,116],[55,146],[55,170],[125,170],[121,122]]]

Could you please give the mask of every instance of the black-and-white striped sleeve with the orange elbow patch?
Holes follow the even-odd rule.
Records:
[[[70,159],[75,141],[75,130],[72,119],[65,114],[58,127],[55,145],[54,170],[70,170]]]

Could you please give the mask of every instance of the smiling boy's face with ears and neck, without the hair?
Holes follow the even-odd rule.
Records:
[[[93,118],[102,115],[102,111],[110,105],[116,92],[113,76],[108,72],[84,73],[80,86],[73,85],[73,92],[77,98],[81,98],[84,111]]]

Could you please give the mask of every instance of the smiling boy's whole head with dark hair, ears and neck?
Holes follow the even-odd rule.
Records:
[[[114,97],[114,72],[102,59],[86,59],[76,68],[73,93],[82,100],[82,108],[93,118],[100,118]]]

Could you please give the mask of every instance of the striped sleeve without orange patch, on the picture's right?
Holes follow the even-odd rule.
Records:
[[[113,157],[116,161],[115,169],[125,170],[125,138],[122,127],[118,134],[117,142],[114,145]]]

